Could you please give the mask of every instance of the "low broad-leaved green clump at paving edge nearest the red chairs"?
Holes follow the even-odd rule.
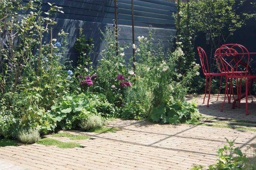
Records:
[[[157,123],[175,125],[177,123],[185,123],[186,121],[197,122],[200,116],[197,105],[188,102],[170,101],[154,108],[151,120]]]

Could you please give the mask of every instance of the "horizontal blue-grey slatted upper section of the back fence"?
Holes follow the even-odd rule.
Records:
[[[29,1],[29,0],[24,0]],[[49,3],[62,7],[64,14],[57,18],[90,21],[97,23],[113,23],[113,0],[43,0],[43,11],[49,9]],[[134,0],[135,26],[151,25],[153,28],[175,29],[172,14],[177,12],[175,3],[161,0]],[[118,0],[118,23],[131,26],[131,0]]]

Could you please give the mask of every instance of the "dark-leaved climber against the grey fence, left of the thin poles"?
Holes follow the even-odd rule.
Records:
[[[79,53],[77,65],[79,67],[87,67],[92,64],[90,61],[90,54],[93,52],[93,38],[87,39],[83,34],[83,30],[79,29],[79,37],[76,38],[75,49]],[[90,65],[91,68],[91,65]]]

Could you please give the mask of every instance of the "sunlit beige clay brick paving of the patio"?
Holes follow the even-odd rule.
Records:
[[[198,103],[200,100],[201,96]],[[256,121],[256,111],[242,116],[243,108],[231,110],[227,105],[227,112],[219,112],[218,105],[213,103],[210,108],[201,105],[199,110],[206,116],[225,118],[226,114],[228,118],[236,118],[237,115],[239,119]],[[248,154],[251,152],[245,151],[246,148],[256,143],[255,132],[218,127],[159,125],[133,120],[116,120],[108,126],[122,130],[101,134],[69,130],[93,139],[56,138],[77,142],[84,148],[61,149],[39,144],[0,147],[0,170],[187,170],[194,164],[215,163],[217,147],[226,143],[225,137],[237,137],[235,146]]]

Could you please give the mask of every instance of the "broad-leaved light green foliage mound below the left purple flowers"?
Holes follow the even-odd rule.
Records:
[[[105,110],[100,112],[102,108]],[[81,121],[87,120],[90,115],[101,113],[106,115],[106,110],[109,109],[109,113],[114,110],[102,94],[92,93],[67,94],[51,109],[52,117],[57,120],[57,125],[62,129],[76,127]]]

